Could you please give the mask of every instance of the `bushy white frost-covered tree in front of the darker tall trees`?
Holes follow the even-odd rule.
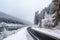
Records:
[[[42,20],[42,27],[43,28],[52,28],[54,26],[55,14],[50,15],[47,12],[45,13],[45,19]]]

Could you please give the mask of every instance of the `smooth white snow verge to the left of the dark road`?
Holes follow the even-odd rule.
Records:
[[[22,28],[17,33],[10,35],[9,37],[3,40],[33,40],[33,38],[27,32],[27,27],[25,27],[25,28]]]

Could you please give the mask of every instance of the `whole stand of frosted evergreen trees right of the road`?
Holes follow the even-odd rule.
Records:
[[[35,12],[34,24],[42,28],[60,29],[60,0],[52,0],[52,3],[40,13]]]

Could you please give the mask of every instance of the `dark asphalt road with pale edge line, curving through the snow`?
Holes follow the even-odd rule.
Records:
[[[29,34],[34,38],[34,40],[60,40],[58,38],[51,37],[50,35],[46,35],[44,33],[40,33],[31,27],[28,29]]]

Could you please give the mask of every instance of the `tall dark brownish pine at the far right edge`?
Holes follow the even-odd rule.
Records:
[[[56,8],[56,9],[53,9],[54,10],[53,14],[55,14],[55,16],[53,16],[53,17],[55,17],[53,22],[54,22],[54,27],[55,27],[58,25],[58,22],[60,21],[60,12],[59,12],[60,11],[60,1],[59,0],[53,0],[53,3],[55,5],[54,8]]]

